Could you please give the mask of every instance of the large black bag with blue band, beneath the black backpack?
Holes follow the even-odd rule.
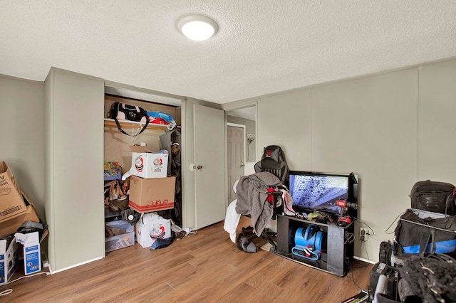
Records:
[[[456,250],[456,216],[408,209],[394,230],[394,255],[450,253]]]

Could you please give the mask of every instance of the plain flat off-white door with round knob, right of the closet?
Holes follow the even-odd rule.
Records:
[[[224,111],[194,105],[195,222],[196,228],[224,219],[225,139]]]

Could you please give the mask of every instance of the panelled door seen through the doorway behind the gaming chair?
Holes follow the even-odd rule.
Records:
[[[227,127],[227,171],[228,202],[236,198],[233,191],[234,182],[244,176],[244,140],[245,128],[228,125]]]

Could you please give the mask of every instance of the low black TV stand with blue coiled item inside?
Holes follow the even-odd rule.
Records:
[[[294,237],[298,228],[306,228],[315,224],[326,233],[326,252],[321,253],[319,260],[309,260],[306,257],[294,255]],[[286,257],[294,262],[330,272],[333,275],[345,276],[353,263],[354,223],[339,226],[337,223],[317,223],[301,218],[277,215],[277,245],[276,255]]]

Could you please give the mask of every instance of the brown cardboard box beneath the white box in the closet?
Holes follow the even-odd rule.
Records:
[[[128,206],[138,213],[150,213],[174,208],[175,176],[158,179],[130,177]]]

